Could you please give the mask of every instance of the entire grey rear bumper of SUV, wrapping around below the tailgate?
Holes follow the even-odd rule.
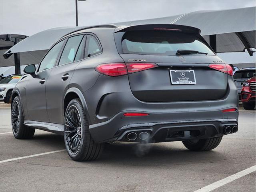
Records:
[[[197,135],[197,138],[217,137],[224,135],[219,130],[222,123],[237,124],[238,120],[238,94],[231,76],[228,77],[227,93],[221,100],[143,102],[132,94],[127,76],[109,78],[100,75],[94,86],[83,94],[88,107],[90,134],[96,142],[123,140],[122,134],[130,129],[146,128],[154,137],[161,129],[172,131],[177,126],[181,131],[184,131],[184,126],[187,130],[188,127],[205,129],[205,133]],[[222,112],[228,108],[237,110]],[[123,115],[136,112],[149,115],[135,117]],[[162,138],[166,139],[164,136]]]

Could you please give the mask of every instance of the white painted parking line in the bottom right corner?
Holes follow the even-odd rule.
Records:
[[[238,173],[236,173],[234,175],[230,175],[230,176],[228,176],[228,177],[226,177],[226,178],[224,178],[222,180],[214,182],[214,183],[212,183],[212,184],[210,184],[208,186],[205,186],[203,188],[200,188],[200,189],[198,189],[198,190],[196,190],[194,192],[209,192],[209,191],[212,191],[212,190],[214,190],[214,189],[216,189],[216,188],[218,188],[220,186],[223,186],[225,184],[228,184],[229,182],[232,182],[232,181],[234,181],[234,180],[236,180],[236,179],[238,179],[238,178],[240,178],[242,176],[245,176],[245,175],[248,175],[248,174],[254,172],[255,168],[256,168],[256,166],[254,165],[254,166],[252,166],[252,167],[250,167],[248,169],[242,170],[242,171],[240,171],[240,172],[238,172]]]

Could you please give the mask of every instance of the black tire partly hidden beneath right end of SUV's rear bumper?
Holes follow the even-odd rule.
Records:
[[[192,151],[208,151],[216,148],[220,141],[222,140],[221,137],[215,138],[208,138],[208,139],[200,139],[200,140],[186,140],[182,141],[184,146]]]

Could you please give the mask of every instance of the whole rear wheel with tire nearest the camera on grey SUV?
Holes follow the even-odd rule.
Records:
[[[64,142],[68,155],[75,161],[96,160],[104,149],[104,144],[92,139],[86,111],[78,98],[70,101],[65,112]]]

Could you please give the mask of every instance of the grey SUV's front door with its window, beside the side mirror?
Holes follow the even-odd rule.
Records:
[[[55,66],[64,41],[58,42],[43,58],[35,78],[30,76],[26,85],[26,102],[29,120],[49,122],[46,110],[46,83],[52,68]]]

